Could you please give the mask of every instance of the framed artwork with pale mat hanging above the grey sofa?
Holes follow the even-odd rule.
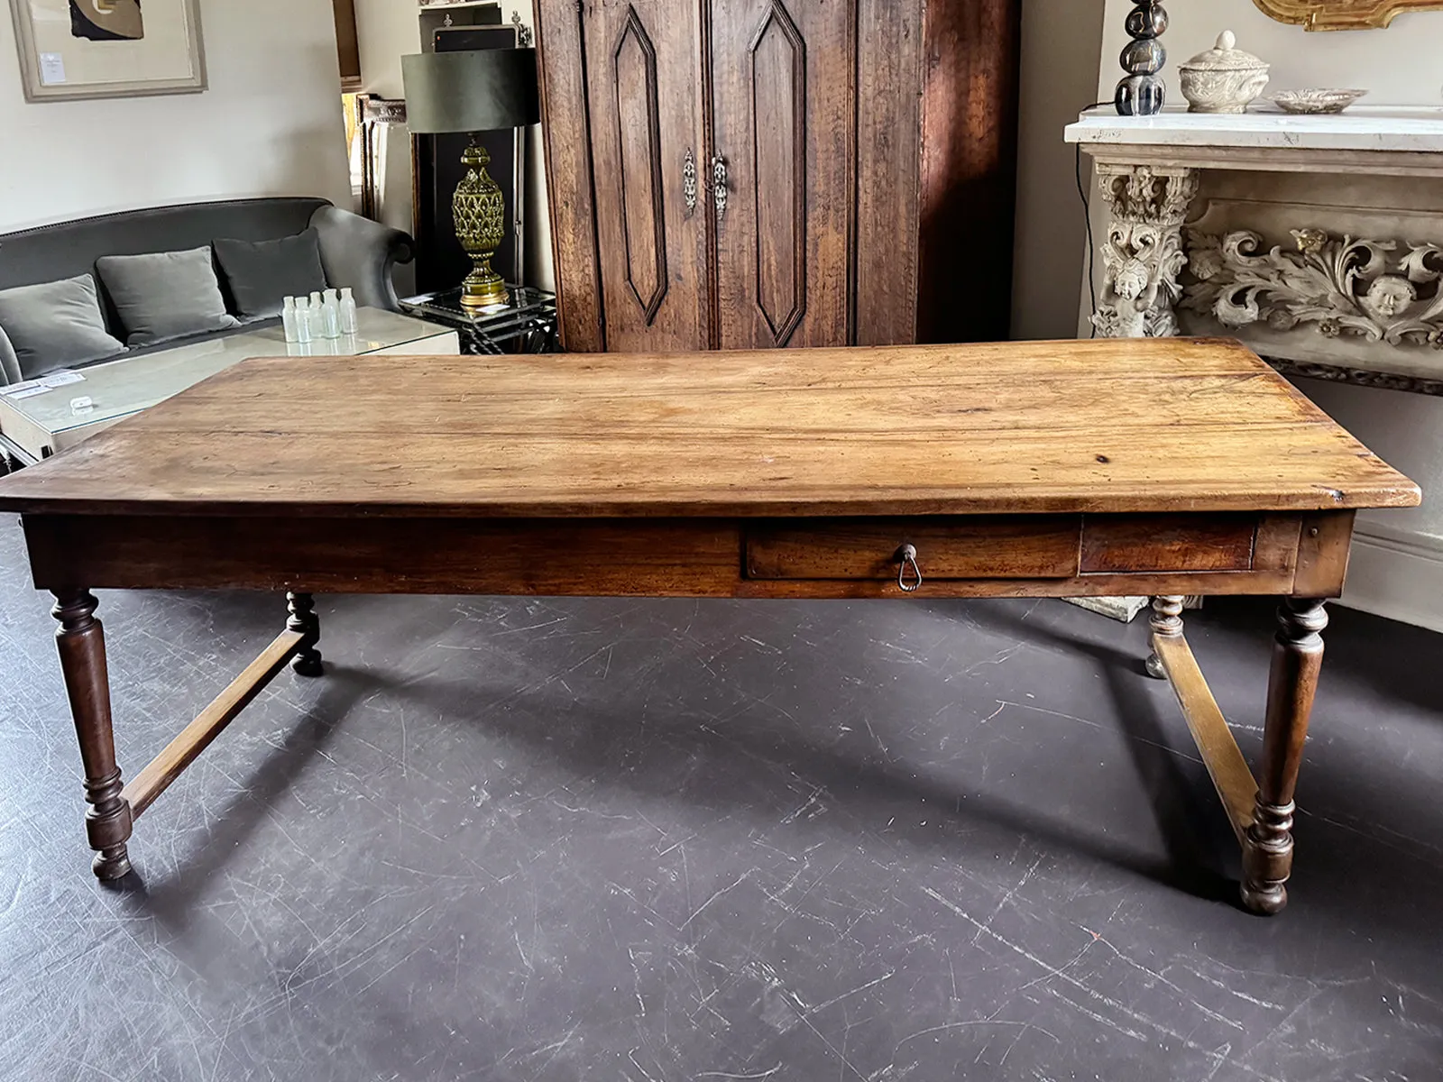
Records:
[[[199,0],[10,0],[26,101],[199,94]]]

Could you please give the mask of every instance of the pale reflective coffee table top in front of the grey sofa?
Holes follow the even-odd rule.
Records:
[[[25,395],[27,390],[25,384],[0,387],[0,404],[14,410],[51,434],[56,434],[149,410],[156,403],[162,403],[253,356],[273,356],[276,353],[349,356],[392,349],[444,333],[449,333],[449,327],[426,323],[397,312],[362,307],[356,310],[355,335],[302,345],[286,342],[286,332],[278,325],[263,326],[143,356],[120,356],[105,364],[89,365],[75,374],[82,379],[39,394],[17,398],[16,392]],[[76,398],[89,398],[91,405],[72,408],[71,403]],[[0,413],[0,430],[3,427],[4,418]]]

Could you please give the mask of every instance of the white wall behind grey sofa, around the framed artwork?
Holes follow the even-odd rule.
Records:
[[[329,0],[201,0],[205,94],[29,104],[0,16],[0,229],[195,199],[349,206]]]

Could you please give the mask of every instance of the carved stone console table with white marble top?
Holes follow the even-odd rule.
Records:
[[[1082,114],[1100,335],[1228,335],[1297,375],[1443,394],[1443,110]]]

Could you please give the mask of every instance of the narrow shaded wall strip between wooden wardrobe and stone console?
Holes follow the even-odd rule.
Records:
[[[1075,151],[1059,133],[1097,100],[1101,39],[1101,4],[1023,0],[1013,338],[1076,333],[1087,239]],[[1084,159],[1084,186],[1091,176]]]

